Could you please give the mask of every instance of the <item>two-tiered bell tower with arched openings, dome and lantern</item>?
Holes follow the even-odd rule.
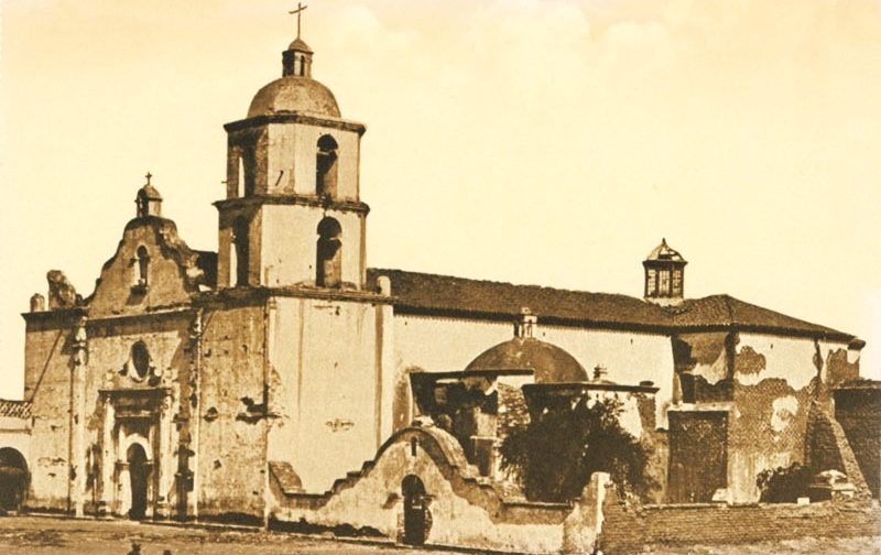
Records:
[[[297,36],[282,54],[282,77],[257,92],[246,119],[225,126],[220,287],[365,289],[366,129],[340,117],[334,94],[312,78],[312,59]]]

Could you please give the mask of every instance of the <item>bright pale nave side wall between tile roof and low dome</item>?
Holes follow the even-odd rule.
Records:
[[[392,291],[394,294],[394,291]],[[541,320],[541,315],[539,315]],[[508,322],[395,314],[395,363],[400,372],[463,370],[485,350],[513,337]],[[587,370],[597,364],[622,384],[654,381],[657,427],[666,427],[673,396],[673,353],[664,335],[546,326],[535,337],[568,351]]]

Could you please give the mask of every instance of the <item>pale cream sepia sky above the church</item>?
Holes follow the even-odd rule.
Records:
[[[313,76],[368,128],[369,265],[641,296],[665,237],[686,296],[855,334],[881,378],[880,1],[307,3]],[[91,293],[148,171],[217,249],[222,123],[294,7],[1,1],[1,398],[30,296]]]

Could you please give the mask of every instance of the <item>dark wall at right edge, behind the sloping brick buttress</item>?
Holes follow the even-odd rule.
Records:
[[[835,420],[847,440],[872,497],[881,497],[881,383],[835,391]]]

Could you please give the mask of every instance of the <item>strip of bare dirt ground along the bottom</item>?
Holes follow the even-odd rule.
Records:
[[[879,531],[881,533],[881,531]],[[409,549],[394,545],[339,542],[264,531],[205,530],[131,521],[93,521],[42,516],[0,518],[0,554],[128,555],[132,542],[142,555],[452,555],[439,549]],[[881,536],[857,538],[804,538],[727,547],[646,546],[659,555],[771,555],[771,554],[881,554]]]

